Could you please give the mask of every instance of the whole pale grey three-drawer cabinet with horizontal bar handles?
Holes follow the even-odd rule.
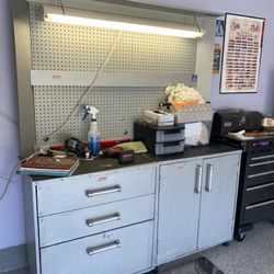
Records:
[[[151,163],[65,179],[26,178],[31,273],[151,270],[156,172]]]

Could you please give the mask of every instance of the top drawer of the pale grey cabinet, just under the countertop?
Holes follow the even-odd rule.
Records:
[[[38,216],[155,193],[155,167],[56,179],[37,184]]]

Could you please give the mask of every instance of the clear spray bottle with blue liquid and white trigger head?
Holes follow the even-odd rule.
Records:
[[[96,121],[96,114],[99,113],[99,110],[91,105],[85,105],[84,107],[85,114],[84,117],[87,117],[88,114],[91,115],[91,123],[90,123],[90,129],[88,132],[88,142],[90,151],[93,156],[99,155],[100,152],[100,133],[98,130],[98,121]]]

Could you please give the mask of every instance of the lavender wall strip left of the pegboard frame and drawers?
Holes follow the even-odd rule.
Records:
[[[14,72],[12,9],[0,1],[0,195],[19,160],[18,100]],[[0,249],[25,242],[21,178],[14,175],[0,201]]]

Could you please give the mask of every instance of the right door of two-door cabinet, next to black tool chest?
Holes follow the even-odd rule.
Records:
[[[232,239],[239,155],[205,159],[198,249]]]

